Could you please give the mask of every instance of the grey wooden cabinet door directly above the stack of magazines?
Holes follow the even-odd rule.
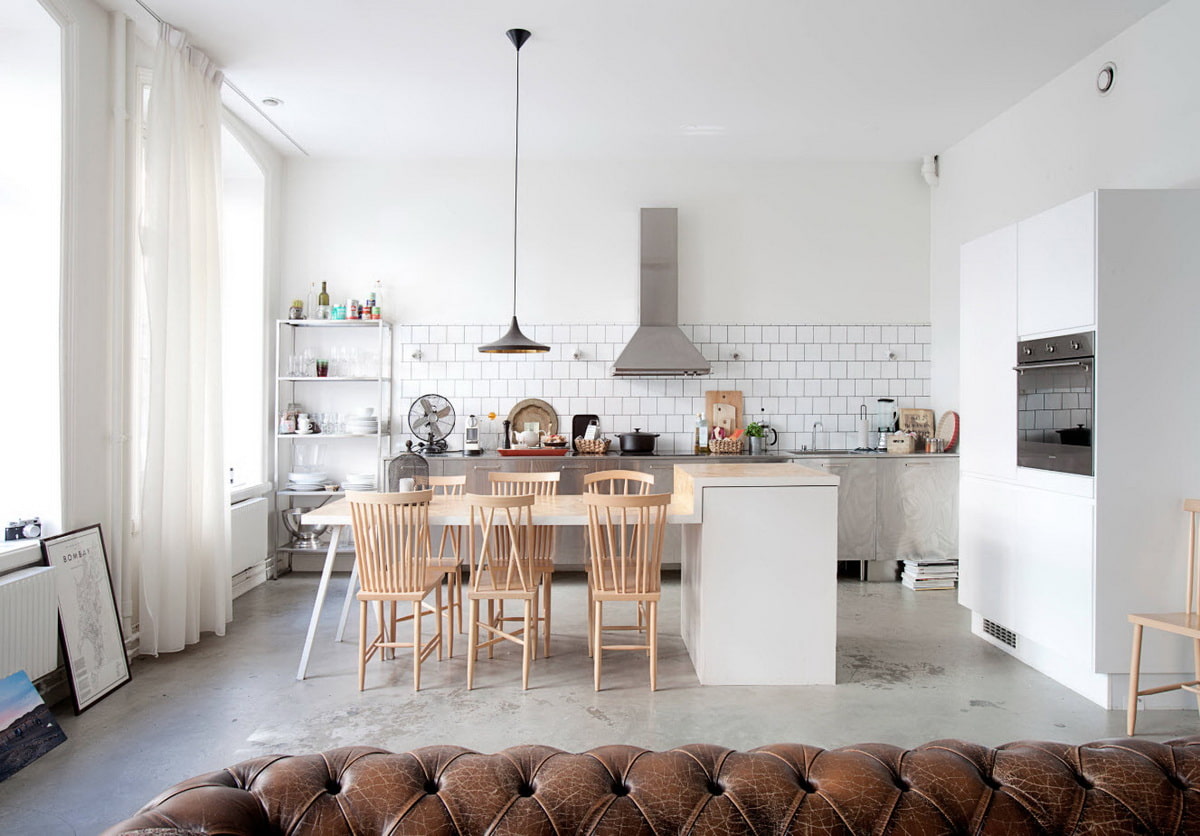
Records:
[[[958,557],[958,468],[954,459],[881,459],[877,468],[876,560]]]

